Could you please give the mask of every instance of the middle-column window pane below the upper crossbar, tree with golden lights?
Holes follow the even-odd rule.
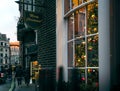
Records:
[[[85,39],[78,39],[75,41],[75,66],[85,66]]]

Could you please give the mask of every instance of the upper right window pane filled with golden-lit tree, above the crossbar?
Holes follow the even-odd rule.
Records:
[[[87,34],[98,32],[98,3],[87,6]]]

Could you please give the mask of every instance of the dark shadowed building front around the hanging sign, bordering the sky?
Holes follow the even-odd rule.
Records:
[[[37,60],[37,42],[36,30],[29,27],[26,21],[27,14],[35,11],[34,7],[29,4],[34,4],[34,0],[19,0],[20,18],[17,24],[17,40],[20,41],[20,61],[23,67],[29,67],[32,61]]]

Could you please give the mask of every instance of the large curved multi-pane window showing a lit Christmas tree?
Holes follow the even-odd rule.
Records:
[[[73,12],[67,17],[68,78],[70,80],[72,76],[72,68],[76,68],[79,71],[80,79],[87,86],[98,91],[98,2],[97,0],[95,2],[92,0],[68,1],[73,9]],[[74,10],[81,4],[84,6]]]

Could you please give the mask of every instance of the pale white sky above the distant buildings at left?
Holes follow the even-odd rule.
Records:
[[[17,41],[17,22],[19,7],[17,0],[2,0],[0,2],[0,33],[6,34],[10,41]]]

